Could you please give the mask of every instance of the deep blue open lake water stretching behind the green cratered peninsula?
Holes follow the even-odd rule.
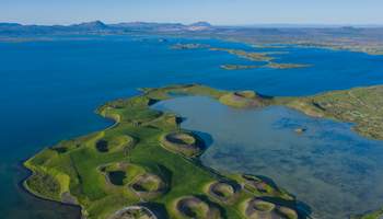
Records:
[[[18,183],[26,173],[20,163],[61,139],[109,125],[93,114],[94,108],[108,100],[131,96],[137,88],[197,82],[269,95],[307,95],[383,83],[382,56],[291,47],[278,49],[290,51],[278,55],[281,62],[313,67],[227,71],[219,66],[252,62],[222,51],[169,48],[178,42],[256,50],[214,39],[170,38],[163,43],[153,36],[0,43],[0,215],[73,218],[76,209],[23,193]]]

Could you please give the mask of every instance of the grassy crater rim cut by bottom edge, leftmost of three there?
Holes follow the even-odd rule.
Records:
[[[116,211],[108,219],[156,219],[155,215],[142,206],[129,206]]]

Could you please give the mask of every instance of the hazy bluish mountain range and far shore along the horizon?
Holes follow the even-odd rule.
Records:
[[[105,24],[93,21],[73,25],[22,25],[0,23],[0,41],[51,35],[160,34],[218,37],[251,44],[297,44],[309,47],[349,49],[383,55],[383,27],[372,26],[214,26],[208,22],[181,23],[129,22]]]

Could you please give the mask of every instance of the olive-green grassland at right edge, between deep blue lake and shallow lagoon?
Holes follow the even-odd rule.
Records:
[[[310,116],[353,123],[353,129],[357,132],[369,138],[383,139],[382,85],[332,91],[280,101]]]

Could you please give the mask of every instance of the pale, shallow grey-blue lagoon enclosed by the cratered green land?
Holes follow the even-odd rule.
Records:
[[[382,207],[383,141],[364,139],[351,124],[283,106],[234,110],[201,96],[154,107],[185,117],[183,128],[211,136],[205,165],[271,177],[309,205],[313,218],[348,218]],[[301,127],[306,131],[297,134]]]

